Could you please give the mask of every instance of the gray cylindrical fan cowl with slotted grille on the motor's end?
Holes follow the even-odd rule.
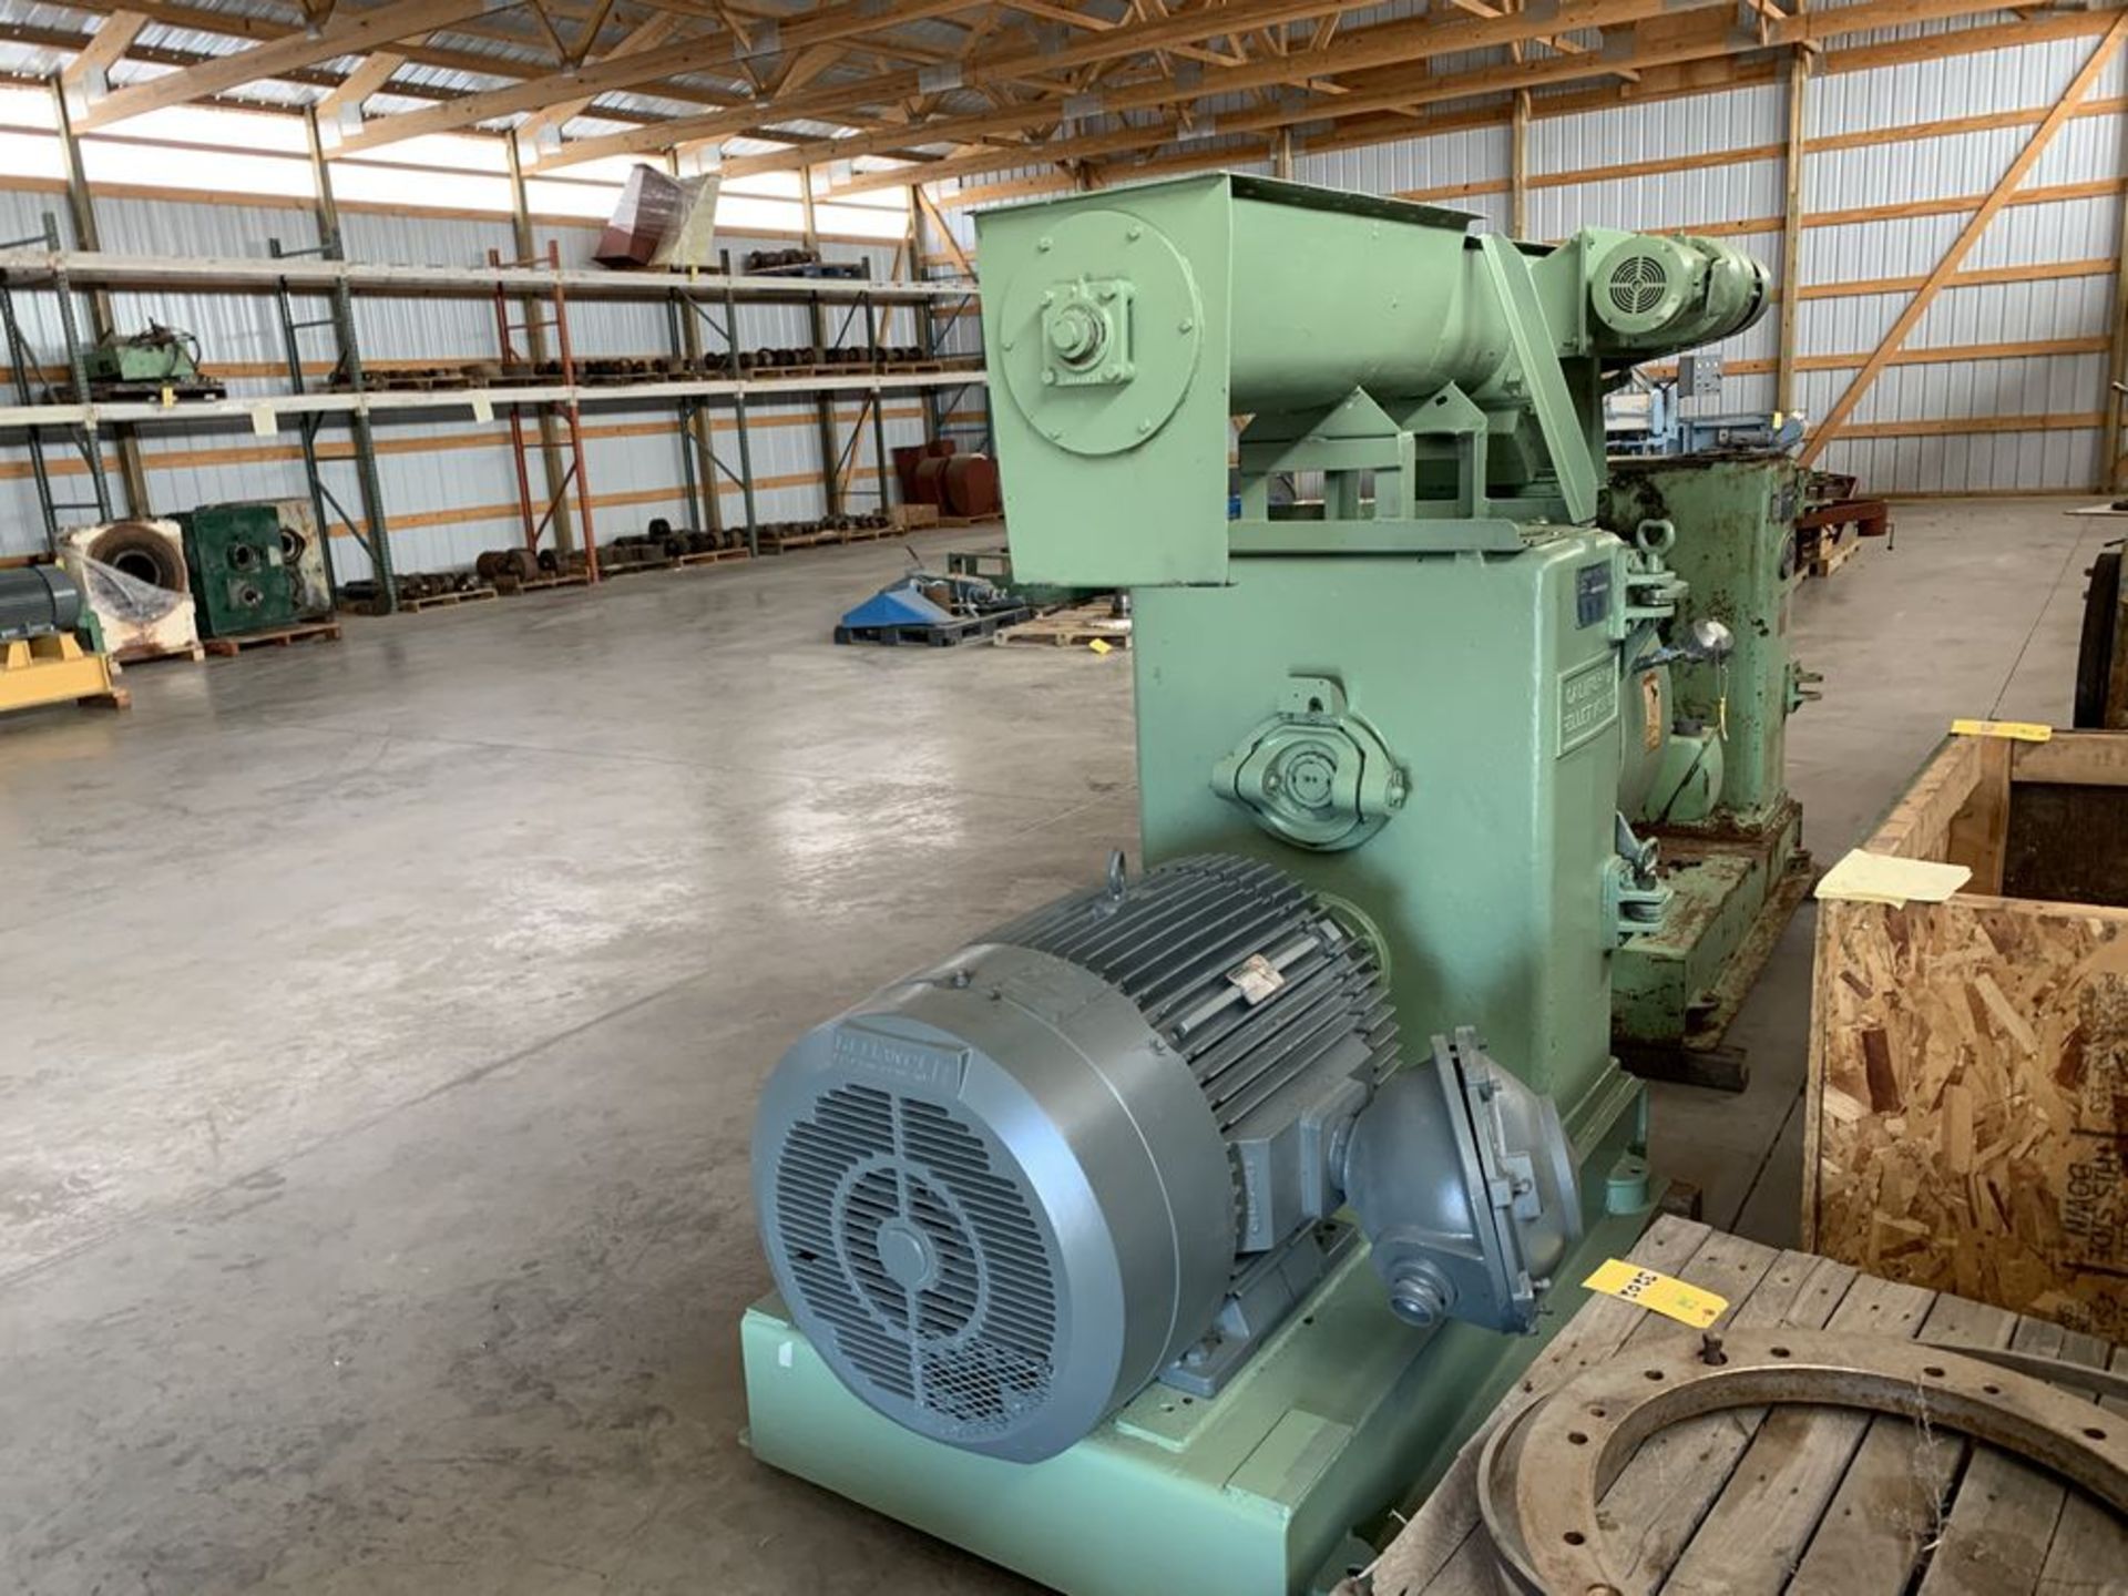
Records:
[[[1136,1007],[975,945],[807,1034],[770,1079],[753,1192],[777,1283],[864,1402],[1034,1462],[1209,1321],[1226,1147]]]

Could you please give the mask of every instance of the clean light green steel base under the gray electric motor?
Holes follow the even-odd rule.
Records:
[[[1639,1092],[1632,1092],[1639,1098]],[[1424,1496],[1581,1281],[1653,1217],[1634,1113],[1583,1164],[1587,1228],[1541,1328],[1413,1330],[1356,1247],[1219,1396],[1151,1385],[1036,1464],[928,1441],[860,1402],[775,1294],[741,1326],[753,1456],[1068,1596],[1287,1596],[1351,1573],[1353,1534]],[[1611,1170],[1611,1181],[1598,1175]],[[1611,1209],[1622,1209],[1611,1213]]]

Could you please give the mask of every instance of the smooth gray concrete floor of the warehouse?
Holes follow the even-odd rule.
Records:
[[[1826,860],[1951,715],[2060,719],[2064,502],[1900,511],[1796,604]],[[938,534],[926,547],[966,543]],[[755,1083],[1134,841],[1128,658],[834,649],[898,547],[128,672],[0,726],[0,1587],[996,1592],[755,1466]],[[1809,913],[1664,1090],[1794,1234]]]

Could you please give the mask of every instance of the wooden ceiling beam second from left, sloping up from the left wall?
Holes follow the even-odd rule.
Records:
[[[858,38],[866,32],[877,32],[904,21],[919,21],[924,17],[945,17],[955,11],[970,11],[972,4],[975,0],[900,0],[894,11],[881,11],[866,0],[858,0],[855,4],[824,6],[819,11],[800,13],[787,26],[764,23],[753,30],[753,38],[741,38],[730,32],[689,38],[687,43],[670,49],[626,55],[619,60],[602,60],[594,66],[534,77],[506,89],[481,89],[479,94],[466,94],[430,111],[383,117],[368,123],[362,134],[340,145],[336,153],[353,155],[364,149],[398,143],[400,138],[455,132],[458,128],[470,128],[479,121],[513,117],[519,111],[545,111],[551,104],[585,96],[596,98],[617,89],[643,89],[655,94],[655,83],[660,79],[677,77],[681,72],[730,72],[741,62],[755,57],[798,51],[809,45],[828,45],[841,38]],[[749,100],[734,106],[730,113],[719,115],[758,123],[766,115],[766,104]]]

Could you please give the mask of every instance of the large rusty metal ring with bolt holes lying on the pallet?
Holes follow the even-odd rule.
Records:
[[[1479,1460],[1487,1528],[1511,1577],[1562,1596],[1617,1596],[1630,1549],[1598,1502],[1643,1441],[1683,1419],[1807,1402],[1958,1430],[2081,1485],[2128,1517],[2128,1419],[2043,1379],[1915,1341],[1828,1330],[1677,1339],[1577,1375],[1504,1424]],[[1513,1485],[1513,1524],[1500,1492]],[[1492,1498],[1490,1502],[1485,1498]]]

